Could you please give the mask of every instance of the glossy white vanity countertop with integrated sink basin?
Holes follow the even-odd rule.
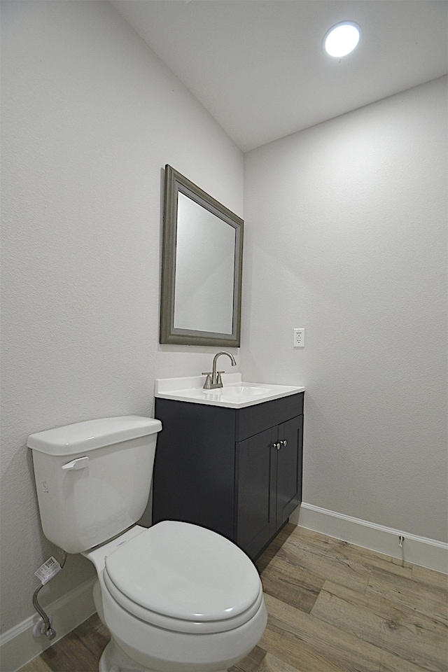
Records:
[[[204,377],[165,378],[155,381],[155,396],[196,404],[242,408],[303,392],[304,387],[241,381],[240,373],[223,374],[223,387],[204,390]]]

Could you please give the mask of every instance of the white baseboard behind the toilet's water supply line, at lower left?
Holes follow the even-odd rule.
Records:
[[[34,624],[39,619],[37,613],[3,633],[0,636],[1,672],[16,672],[94,614],[92,588],[95,579],[93,577],[45,606],[45,611],[52,615],[52,628],[57,633],[55,639],[33,636]]]

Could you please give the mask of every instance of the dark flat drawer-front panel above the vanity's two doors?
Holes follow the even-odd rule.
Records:
[[[235,440],[244,441],[269,427],[286,422],[303,413],[304,393],[265,401],[262,404],[240,408],[236,418]]]

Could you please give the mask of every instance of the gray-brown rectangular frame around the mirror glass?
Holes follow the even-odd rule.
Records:
[[[233,283],[232,334],[221,334],[174,327],[174,289],[176,283],[177,195],[181,192],[235,228],[235,273]],[[223,204],[169,165],[165,166],[165,204],[162,243],[162,282],[160,297],[160,343],[239,347],[241,333],[241,283],[244,221]]]

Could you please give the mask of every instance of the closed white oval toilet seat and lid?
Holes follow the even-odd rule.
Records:
[[[125,610],[177,632],[231,630],[262,604],[248,556],[221,535],[179,521],[162,521],[118,547],[103,577]]]

